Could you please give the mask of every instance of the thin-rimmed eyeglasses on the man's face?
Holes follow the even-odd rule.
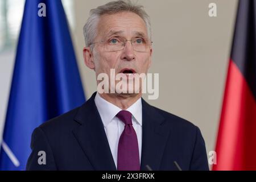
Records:
[[[131,45],[133,46],[134,51],[137,51],[137,52],[147,52],[148,48],[153,43],[153,42],[148,42],[143,38],[133,38],[131,40],[127,40],[125,38],[117,37],[117,38],[102,40],[100,42],[93,42],[93,43],[90,43],[89,46],[91,46],[92,44],[101,43],[101,44],[104,44],[104,48],[106,52],[114,52],[114,51],[122,50],[125,47],[126,42],[131,42]]]

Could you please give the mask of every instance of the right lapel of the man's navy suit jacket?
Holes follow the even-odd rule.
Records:
[[[167,122],[154,107],[142,100],[142,159],[141,170],[147,170],[148,165],[153,170],[159,170],[164,147],[170,133]]]

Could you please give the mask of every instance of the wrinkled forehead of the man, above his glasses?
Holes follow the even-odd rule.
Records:
[[[146,23],[135,13],[105,14],[98,22],[98,36],[125,36],[148,38]]]

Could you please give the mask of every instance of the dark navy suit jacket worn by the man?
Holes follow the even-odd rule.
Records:
[[[85,104],[37,127],[27,170],[117,170],[93,96]],[[46,164],[38,159],[46,152]],[[42,159],[42,158],[41,158]],[[39,159],[39,160],[41,160]],[[208,170],[197,126],[142,99],[141,170]]]

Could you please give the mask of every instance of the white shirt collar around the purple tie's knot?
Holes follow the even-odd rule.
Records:
[[[104,100],[104,98],[102,98],[100,94],[98,94],[98,92],[94,98],[94,102],[96,104],[98,112],[100,113],[101,120],[103,122],[104,127],[108,126],[108,124],[113,121],[113,118],[115,117],[115,115],[117,115],[117,113],[119,113],[119,111],[122,110],[119,107],[115,106],[114,104]],[[137,121],[139,125],[142,126],[141,98],[139,98],[133,105],[131,105],[126,110],[130,111],[135,121]]]

